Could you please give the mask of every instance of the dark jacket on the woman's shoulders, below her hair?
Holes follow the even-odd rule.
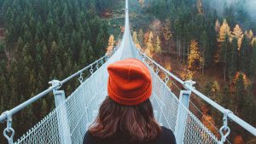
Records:
[[[136,144],[131,143],[129,140],[125,139],[122,136],[116,136],[108,139],[100,139],[93,135],[90,135],[89,132],[86,132],[84,135],[83,144]],[[137,143],[137,144],[176,144],[175,136],[172,133],[172,130],[162,127],[162,133],[158,135],[153,141],[148,141],[146,143]]]

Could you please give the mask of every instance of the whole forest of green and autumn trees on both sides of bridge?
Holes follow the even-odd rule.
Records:
[[[13,108],[113,49],[123,32],[119,0],[0,0],[0,112]],[[196,89],[256,125],[256,19],[250,1],[130,0],[139,49]],[[221,7],[218,7],[218,6]],[[221,9],[220,9],[221,8]],[[64,85],[67,95],[77,86]],[[222,115],[193,98],[198,118],[219,136]],[[45,96],[15,115],[15,137],[55,108]],[[231,143],[255,137],[232,122]],[[5,124],[0,124],[3,131]],[[5,141],[3,135],[0,141]]]

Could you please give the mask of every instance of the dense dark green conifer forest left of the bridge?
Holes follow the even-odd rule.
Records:
[[[19,105],[105,54],[108,28],[98,16],[95,1],[1,0],[0,112]],[[97,6],[97,7],[96,7]],[[65,85],[66,95],[75,81]],[[15,115],[15,136],[55,108],[45,96]],[[3,131],[5,124],[0,125]],[[0,141],[5,141],[3,135]],[[1,142],[2,143],[2,142]]]

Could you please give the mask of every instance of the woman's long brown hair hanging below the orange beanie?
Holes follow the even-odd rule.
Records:
[[[131,142],[143,142],[153,140],[161,129],[149,100],[137,106],[123,106],[107,96],[89,132],[103,139],[120,135]]]

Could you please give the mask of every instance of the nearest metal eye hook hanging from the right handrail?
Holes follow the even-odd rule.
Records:
[[[221,141],[219,142],[220,144],[223,144],[224,141],[226,141],[227,137],[230,135],[230,128],[228,126],[228,115],[231,112],[229,109],[226,109],[224,111],[224,117],[223,117],[223,123],[224,125],[219,129],[219,133],[221,135]]]

